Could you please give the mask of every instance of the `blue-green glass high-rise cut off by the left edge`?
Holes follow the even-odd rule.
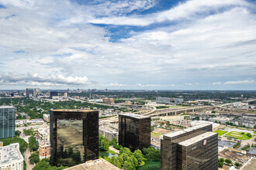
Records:
[[[15,136],[16,108],[0,106],[0,139]]]

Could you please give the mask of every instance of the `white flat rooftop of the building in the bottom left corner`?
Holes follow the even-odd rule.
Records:
[[[19,143],[0,147],[0,165],[9,164],[19,160],[23,160],[19,151]]]

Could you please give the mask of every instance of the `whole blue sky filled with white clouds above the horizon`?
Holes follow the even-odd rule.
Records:
[[[0,0],[0,90],[256,90],[252,0]]]

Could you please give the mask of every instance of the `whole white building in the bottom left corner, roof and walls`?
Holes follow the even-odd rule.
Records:
[[[23,160],[19,143],[0,147],[0,169],[23,170]]]

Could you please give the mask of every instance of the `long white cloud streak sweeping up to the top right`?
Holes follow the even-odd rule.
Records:
[[[113,24],[113,25],[128,25],[128,26],[148,26],[155,22],[175,21],[178,19],[192,19],[196,15],[209,13],[210,11],[218,11],[218,8],[228,8],[230,6],[247,6],[249,5],[243,0],[189,0],[178,4],[177,6],[164,11],[149,14],[145,16],[119,16],[92,18],[88,22],[97,24]]]

